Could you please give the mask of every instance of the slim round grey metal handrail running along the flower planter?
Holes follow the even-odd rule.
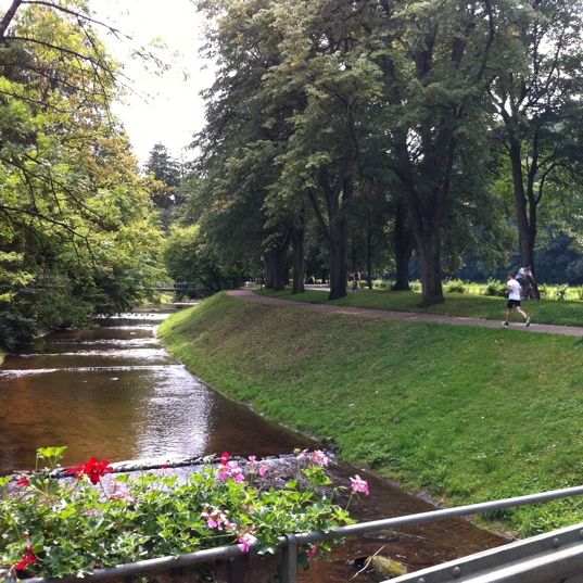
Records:
[[[512,498],[504,498],[498,500],[485,502],[480,504],[469,504],[455,508],[445,508],[441,510],[432,510],[429,512],[420,512],[416,515],[407,515],[383,520],[373,520],[369,522],[359,522],[357,524],[348,524],[331,530],[330,532],[308,532],[302,534],[288,534],[280,537],[280,545],[283,550],[282,563],[279,572],[280,583],[295,583],[297,576],[297,547],[309,543],[318,543],[321,541],[337,540],[359,536],[368,532],[392,530],[411,524],[422,524],[434,520],[443,520],[447,518],[456,518],[471,516],[482,512],[492,512],[503,510],[505,508],[515,508],[530,504],[538,504],[570,496],[583,495],[583,486],[567,487],[562,490],[553,490],[538,494],[530,494],[525,496],[517,496]],[[206,550],[198,550],[189,555],[179,557],[162,557],[156,559],[148,559],[129,565],[121,565],[109,569],[101,569],[90,575],[83,578],[84,582],[98,582],[107,580],[121,580],[136,574],[154,574],[170,569],[194,567],[198,565],[213,563],[218,560],[237,561],[243,556],[239,546],[223,546]],[[0,573],[1,578],[1,573]],[[27,583],[48,583],[48,579],[27,579]],[[78,582],[75,576],[63,578],[59,583]],[[235,581],[235,579],[233,579]]]

